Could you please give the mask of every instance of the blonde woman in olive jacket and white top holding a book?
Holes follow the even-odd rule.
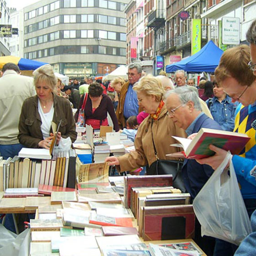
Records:
[[[75,120],[70,103],[64,97],[57,96],[55,86],[57,78],[50,64],[43,65],[33,72],[36,96],[24,101],[19,121],[19,142],[28,148],[49,149],[54,137],[52,122],[59,125],[57,144],[62,138],[75,141]]]

